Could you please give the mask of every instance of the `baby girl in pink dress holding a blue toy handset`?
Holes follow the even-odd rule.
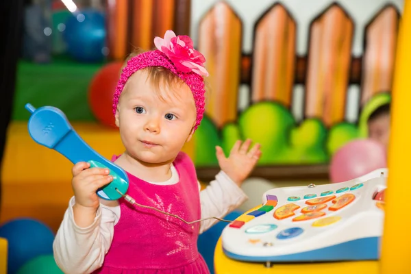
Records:
[[[260,145],[236,142],[228,158],[216,147],[221,172],[200,191],[195,166],[181,152],[204,112],[203,55],[188,36],[166,32],[156,50],[127,62],[113,103],[125,146],[113,160],[129,177],[137,203],[185,221],[223,217],[247,199],[240,189],[260,158]],[[110,144],[108,144],[110,145]],[[53,244],[64,273],[209,273],[197,238],[215,221],[187,224],[125,199],[105,201],[96,191],[112,181],[108,170],[73,166],[74,197]]]

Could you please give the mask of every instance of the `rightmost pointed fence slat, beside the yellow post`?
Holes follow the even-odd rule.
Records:
[[[361,104],[378,92],[391,90],[397,47],[399,14],[384,8],[366,27]]]

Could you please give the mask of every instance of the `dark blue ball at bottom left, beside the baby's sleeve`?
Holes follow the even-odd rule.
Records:
[[[33,258],[53,254],[53,232],[34,219],[14,219],[3,223],[0,237],[8,240],[8,274],[16,273]]]

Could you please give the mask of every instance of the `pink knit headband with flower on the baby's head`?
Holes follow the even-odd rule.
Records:
[[[164,39],[154,38],[154,44],[157,49],[140,53],[131,58],[123,69],[113,98],[114,115],[127,79],[136,71],[145,69],[147,66],[162,66],[182,79],[192,91],[197,109],[195,124],[195,129],[197,129],[204,114],[204,93],[206,90],[202,76],[208,76],[208,72],[203,66],[206,59],[194,49],[190,37],[175,36],[171,30],[164,34]]]

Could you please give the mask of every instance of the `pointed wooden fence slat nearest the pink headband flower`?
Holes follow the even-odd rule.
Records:
[[[210,73],[206,113],[219,127],[237,116],[241,28],[240,19],[225,2],[216,3],[199,26],[199,51]]]

